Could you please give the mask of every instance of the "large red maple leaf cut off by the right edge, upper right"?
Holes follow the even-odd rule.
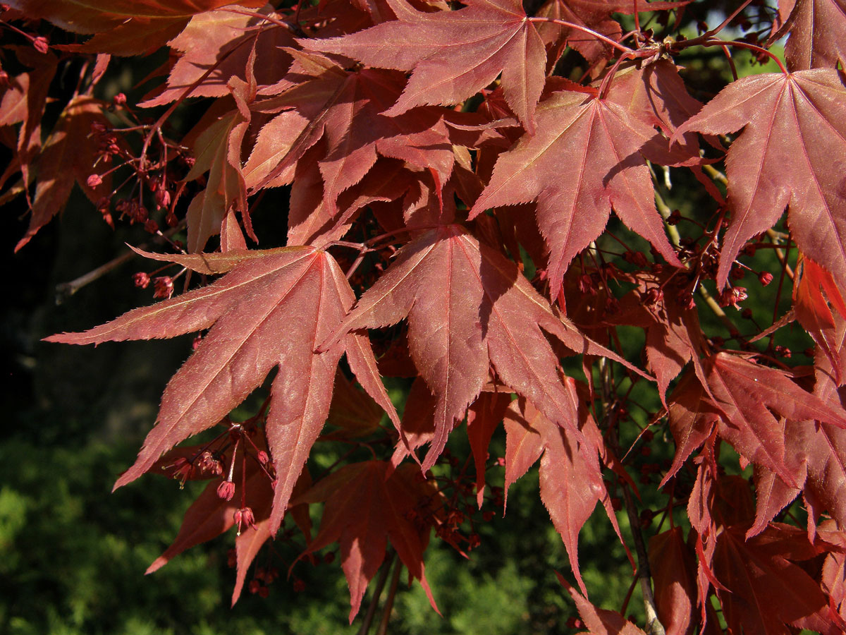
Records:
[[[846,287],[846,87],[835,69],[752,75],[722,89],[676,135],[722,135],[743,128],[728,149],[732,222],[717,284],[728,280],[746,240],[789,207],[799,249]]]

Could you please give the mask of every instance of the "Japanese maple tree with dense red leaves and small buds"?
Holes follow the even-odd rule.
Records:
[[[46,339],[196,334],[115,483],[207,482],[148,572],[226,533],[234,603],[337,543],[366,632],[538,464],[570,627],[846,630],[843,0],[0,7],[17,249],[79,185],[159,300]]]

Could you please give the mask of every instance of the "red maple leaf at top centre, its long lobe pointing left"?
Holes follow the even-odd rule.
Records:
[[[385,114],[426,104],[463,102],[503,75],[505,101],[535,131],[546,52],[518,0],[468,0],[457,11],[421,13],[388,0],[398,19],[349,36],[301,40],[313,51],[338,53],[382,69],[411,72],[402,97]]]

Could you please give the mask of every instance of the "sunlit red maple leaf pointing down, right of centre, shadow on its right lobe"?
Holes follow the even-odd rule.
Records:
[[[569,262],[602,234],[612,208],[667,262],[681,265],[639,153],[656,134],[650,124],[609,99],[579,91],[552,93],[538,107],[537,123],[536,135],[523,136],[497,159],[470,218],[489,207],[536,201],[537,224],[550,249],[553,299]]]

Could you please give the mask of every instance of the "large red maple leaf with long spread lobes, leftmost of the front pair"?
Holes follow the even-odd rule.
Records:
[[[47,338],[68,344],[99,344],[211,329],[168,383],[156,427],[115,488],[140,477],[173,445],[216,424],[278,367],[266,422],[278,478],[270,516],[275,533],[326,421],[335,369],[344,351],[361,384],[398,425],[364,336],[336,338],[324,351],[314,352],[352,305],[349,283],[334,259],[313,247],[146,255],[178,262],[198,273],[228,274],[214,284],[135,309],[85,333]]]

